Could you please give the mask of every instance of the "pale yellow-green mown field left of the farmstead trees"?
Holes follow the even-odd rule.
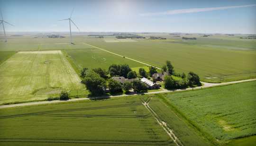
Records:
[[[0,65],[0,78],[0,104],[44,100],[63,89],[85,92],[60,50],[18,52]]]

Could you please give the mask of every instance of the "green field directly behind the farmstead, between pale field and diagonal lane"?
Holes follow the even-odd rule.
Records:
[[[128,64],[130,67],[145,66],[127,58],[102,51],[101,49],[66,49],[64,51],[79,69],[83,67],[108,69],[112,64]]]

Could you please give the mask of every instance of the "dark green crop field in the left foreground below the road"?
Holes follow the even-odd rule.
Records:
[[[0,109],[1,146],[175,146],[137,97]]]

